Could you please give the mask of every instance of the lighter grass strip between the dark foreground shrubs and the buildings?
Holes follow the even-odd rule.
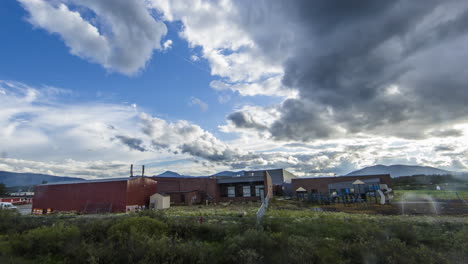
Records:
[[[230,205],[208,205],[208,206],[173,206],[169,209],[150,212],[149,214],[157,214],[162,217],[180,217],[188,219],[199,219],[203,216],[205,221],[209,219],[255,219],[256,212],[260,206],[259,202],[245,204],[230,204]],[[465,210],[467,211],[467,210]],[[441,213],[439,216],[402,216],[400,208],[396,204],[380,205],[375,203],[356,203],[350,205],[330,204],[317,205],[308,202],[296,200],[272,199],[267,211],[267,218],[329,218],[329,219],[382,219],[391,220],[402,217],[403,220],[441,220],[453,219],[455,221],[467,221],[468,218],[461,213],[451,213],[445,215]]]

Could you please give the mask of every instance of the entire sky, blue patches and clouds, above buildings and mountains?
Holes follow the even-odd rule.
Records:
[[[0,32],[0,170],[468,170],[466,1],[4,0]]]

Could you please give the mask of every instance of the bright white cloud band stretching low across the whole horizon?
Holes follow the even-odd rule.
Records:
[[[62,103],[70,96],[75,95],[64,89],[0,81],[0,170],[96,178],[128,175],[132,163],[146,164],[149,174],[171,169],[189,175],[266,168],[288,168],[298,175],[344,174],[378,163],[464,170],[468,164],[463,144],[468,135],[457,134],[468,125],[457,126],[456,137],[448,138],[356,137],[279,144],[257,133],[275,122],[276,110],[251,106],[230,120],[252,134],[223,141],[189,121],[164,120],[132,105]],[[232,129],[237,128],[221,127]]]

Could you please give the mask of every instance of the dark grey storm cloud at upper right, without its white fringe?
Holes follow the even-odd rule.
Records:
[[[468,116],[466,2],[278,0],[263,13],[258,6],[247,5],[244,26],[266,56],[286,54],[283,85],[299,91],[278,107],[274,139],[336,137],[338,127],[418,139]]]

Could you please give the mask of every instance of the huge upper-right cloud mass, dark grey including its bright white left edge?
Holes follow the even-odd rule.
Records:
[[[467,120],[463,1],[152,3],[202,48],[221,77],[212,88],[288,97],[267,128],[274,140],[421,139]],[[252,115],[237,111],[228,120],[264,131]]]

